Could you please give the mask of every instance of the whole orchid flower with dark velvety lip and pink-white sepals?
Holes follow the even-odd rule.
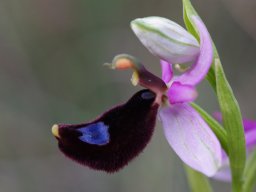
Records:
[[[91,122],[54,125],[52,133],[67,157],[96,170],[118,171],[145,148],[158,114],[167,141],[177,155],[195,170],[215,175],[221,165],[220,143],[189,105],[196,99],[196,85],[204,79],[213,57],[206,27],[198,17],[194,22],[200,32],[200,44],[167,19],[150,17],[132,22],[140,40],[160,57],[162,79],[130,55],[118,55],[106,64],[112,69],[132,69],[133,85],[147,89]],[[194,64],[189,70],[173,75],[172,64],[190,61]]]

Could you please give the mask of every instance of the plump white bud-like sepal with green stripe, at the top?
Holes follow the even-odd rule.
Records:
[[[199,54],[195,37],[166,18],[138,18],[131,22],[131,27],[153,55],[171,64],[194,61]]]

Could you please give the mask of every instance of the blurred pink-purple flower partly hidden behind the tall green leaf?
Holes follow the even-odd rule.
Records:
[[[220,113],[215,113],[214,117],[221,122],[222,116]],[[245,141],[246,141],[246,151],[249,156],[250,153],[256,147],[256,121],[244,119],[243,120],[244,131],[245,131]],[[222,165],[219,171],[213,176],[214,179],[231,182],[231,170],[229,166],[229,158],[224,151],[222,151]]]

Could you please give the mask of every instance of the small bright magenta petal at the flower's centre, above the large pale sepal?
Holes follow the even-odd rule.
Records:
[[[171,104],[194,101],[197,91],[194,86],[174,82],[167,92]]]

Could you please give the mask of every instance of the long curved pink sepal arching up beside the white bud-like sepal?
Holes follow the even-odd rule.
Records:
[[[176,80],[182,84],[196,85],[205,77],[211,66],[213,49],[211,36],[204,23],[197,16],[193,16],[192,19],[200,33],[200,54],[191,68]]]

